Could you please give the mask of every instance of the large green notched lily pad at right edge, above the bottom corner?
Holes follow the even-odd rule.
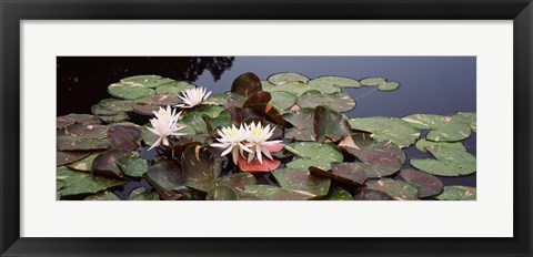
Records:
[[[425,147],[436,160],[411,158],[413,167],[439,176],[461,176],[475,172],[475,156],[454,147]]]

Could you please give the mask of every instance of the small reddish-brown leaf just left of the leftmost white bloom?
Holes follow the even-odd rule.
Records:
[[[111,126],[108,138],[114,150],[133,151],[141,146],[141,133],[137,126]]]

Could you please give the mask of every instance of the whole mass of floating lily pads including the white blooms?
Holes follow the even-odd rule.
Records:
[[[361,86],[400,83],[248,72],[211,95],[158,75],[122,79],[92,114],[57,117],[57,198],[119,199],[114,189],[148,182],[128,199],[475,199],[474,187],[439,179],[475,173],[461,142],[475,113],[348,117],[355,100],[343,88]],[[131,123],[132,113],[151,120]],[[431,157],[408,161],[413,144]]]

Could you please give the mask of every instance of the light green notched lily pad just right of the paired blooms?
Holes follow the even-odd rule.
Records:
[[[314,142],[295,142],[285,145],[285,150],[300,156],[295,157],[286,167],[308,171],[310,166],[322,169],[331,169],[332,162],[342,162],[342,153],[332,144],[319,144]]]

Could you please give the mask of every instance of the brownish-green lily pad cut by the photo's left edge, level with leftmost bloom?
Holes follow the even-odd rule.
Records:
[[[104,125],[74,124],[58,133],[58,151],[98,151],[111,147]]]

